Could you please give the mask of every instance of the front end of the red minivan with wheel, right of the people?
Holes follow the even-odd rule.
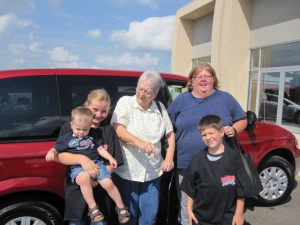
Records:
[[[259,172],[263,190],[259,202],[277,205],[285,201],[295,184],[295,158],[299,157],[298,141],[285,128],[248,118],[248,126],[239,136],[239,142],[248,152]],[[256,122],[254,122],[256,121]]]

